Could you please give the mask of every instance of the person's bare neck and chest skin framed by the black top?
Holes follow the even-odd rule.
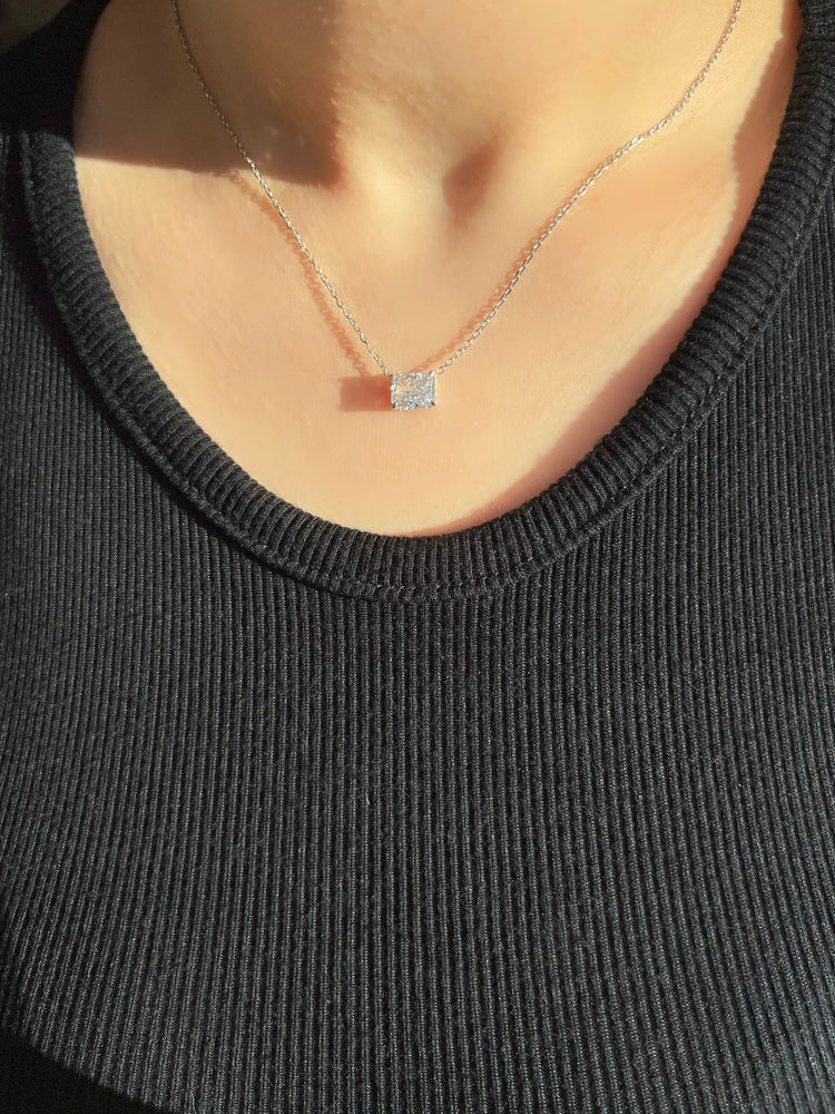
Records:
[[[537,229],[674,107],[731,8],[180,3],[216,98],[394,371],[461,342]],[[76,100],[85,211],[149,359],[265,487],[376,532],[462,529],[568,471],[684,335],[758,193],[799,28],[788,0],[744,0],[681,116],[574,206],[431,410],[392,412],[169,0],[111,0],[99,21]]]

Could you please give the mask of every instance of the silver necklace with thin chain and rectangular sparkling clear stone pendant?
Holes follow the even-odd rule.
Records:
[[[232,136],[232,139],[234,140],[236,147],[238,148],[238,150],[243,155],[245,162],[247,163],[247,165],[249,166],[249,169],[255,175],[255,177],[258,180],[259,185],[263,187],[263,189],[265,190],[265,193],[269,197],[269,201],[272,202],[273,206],[278,211],[278,213],[279,213],[282,219],[284,221],[284,223],[286,224],[288,231],[291,232],[291,234],[293,235],[294,240],[298,244],[298,246],[299,246],[303,255],[305,256],[305,258],[307,260],[307,262],[310,263],[310,265],[313,267],[314,272],[322,280],[322,283],[325,286],[325,290],[331,295],[331,297],[333,299],[333,301],[336,303],[336,305],[338,306],[338,309],[342,311],[344,317],[346,319],[346,321],[348,322],[348,324],[351,325],[351,328],[354,330],[354,332],[356,333],[356,335],[360,338],[360,340],[363,343],[363,345],[365,346],[365,349],[367,349],[367,351],[371,354],[371,356],[373,358],[374,362],[380,367],[380,369],[383,371],[383,373],[386,374],[386,375],[389,375],[389,378],[391,379],[391,381],[392,381],[391,382],[391,403],[392,403],[392,409],[394,409],[394,410],[423,410],[423,409],[426,409],[428,407],[433,407],[435,404],[435,401],[436,401],[438,377],[442,372],[444,372],[449,367],[451,367],[460,356],[462,356],[464,354],[464,352],[470,348],[470,345],[487,329],[488,324],[493,320],[493,317],[495,316],[495,314],[499,312],[499,310],[502,307],[502,305],[504,305],[504,303],[507,302],[507,300],[510,297],[511,293],[513,292],[513,289],[515,287],[517,283],[521,278],[522,274],[524,273],[525,268],[528,267],[528,264],[531,262],[531,260],[533,258],[533,256],[540,250],[540,247],[546,242],[546,240],[548,240],[548,237],[551,235],[551,233],[557,227],[557,225],[560,223],[560,221],[573,207],[573,205],[580,199],[580,197],[582,197],[583,194],[588,190],[589,186],[591,186],[592,183],[596,182],[597,178],[599,178],[600,175],[605,170],[607,170],[610,166],[612,166],[615,163],[617,163],[618,159],[622,158],[623,155],[626,155],[628,152],[630,152],[635,147],[637,147],[638,144],[642,143],[645,139],[647,139],[650,136],[655,135],[657,131],[660,131],[661,128],[665,128],[684,109],[685,105],[688,102],[688,100],[690,99],[690,97],[692,97],[692,95],[696,91],[696,89],[698,88],[698,86],[701,85],[701,82],[705,80],[705,78],[707,77],[707,75],[709,74],[709,71],[715,66],[716,60],[718,59],[719,55],[721,53],[721,51],[723,51],[723,49],[725,47],[725,43],[727,42],[727,40],[728,40],[728,38],[730,36],[730,32],[734,29],[734,25],[736,23],[736,19],[737,19],[737,16],[739,13],[740,6],[741,6],[741,0],[735,0],[734,10],[730,13],[728,22],[727,22],[727,25],[725,27],[725,30],[724,30],[723,35],[721,35],[721,38],[719,39],[718,43],[716,45],[716,48],[714,49],[714,52],[711,53],[710,58],[705,63],[705,66],[701,68],[701,70],[699,70],[698,75],[692,80],[692,82],[688,87],[688,89],[685,92],[685,95],[678,101],[678,104],[672,109],[670,109],[670,111],[664,117],[664,119],[659,120],[657,124],[654,124],[651,128],[647,128],[646,131],[641,131],[639,135],[633,136],[628,143],[623,144],[617,150],[612,152],[611,155],[609,155],[602,163],[599,164],[599,166],[597,166],[591,172],[591,174],[586,178],[586,180],[582,183],[582,185],[580,185],[574,190],[574,193],[571,195],[571,197],[566,202],[566,204],[560,209],[557,211],[557,213],[554,214],[554,216],[551,219],[551,222],[546,226],[544,231],[533,242],[530,251],[524,256],[524,258],[522,260],[521,264],[517,267],[515,272],[513,273],[513,276],[510,278],[510,281],[508,282],[508,284],[504,287],[504,290],[502,291],[502,293],[499,295],[498,299],[495,299],[495,301],[492,303],[492,305],[490,306],[489,311],[484,314],[484,316],[481,319],[481,321],[475,326],[475,329],[473,329],[473,331],[468,335],[468,338],[463,341],[463,343],[459,348],[455,349],[455,351],[452,353],[452,355],[450,355],[446,360],[444,360],[443,363],[439,364],[436,368],[431,369],[430,371],[404,372],[404,373],[400,373],[399,374],[399,373],[395,373],[395,372],[392,372],[392,371],[389,370],[389,368],[383,362],[383,360],[380,356],[380,354],[372,346],[371,342],[369,341],[369,338],[365,335],[365,333],[363,332],[363,330],[357,324],[356,319],[354,317],[354,315],[351,313],[351,311],[347,309],[347,306],[345,305],[345,303],[342,301],[342,299],[337,294],[336,290],[333,286],[333,283],[327,277],[327,275],[322,270],[322,267],[318,265],[318,263],[316,262],[316,260],[313,257],[313,254],[311,253],[311,251],[308,250],[307,245],[302,240],[302,237],[298,234],[295,225],[291,221],[291,218],[287,215],[287,213],[284,211],[284,207],[281,205],[281,203],[276,198],[275,194],[271,189],[269,184],[264,178],[264,175],[261,173],[261,170],[258,169],[258,167],[255,165],[255,162],[252,159],[252,157],[249,156],[249,154],[247,153],[247,150],[244,148],[244,145],[242,144],[242,141],[238,138],[238,136],[236,135],[234,128],[232,127],[232,125],[229,124],[229,121],[226,118],[225,114],[222,111],[220,107],[218,106],[217,101],[215,100],[214,96],[212,95],[212,91],[209,90],[209,88],[208,88],[208,86],[206,84],[206,80],[203,77],[203,74],[200,72],[199,67],[197,66],[195,57],[194,57],[194,55],[191,52],[191,48],[190,48],[190,46],[188,43],[188,39],[186,37],[186,32],[185,32],[185,30],[183,28],[183,21],[180,19],[178,0],[171,0],[171,8],[174,9],[174,18],[175,18],[175,22],[177,25],[177,33],[179,36],[179,40],[183,43],[183,48],[184,48],[184,50],[185,50],[185,52],[186,52],[186,55],[188,57],[189,65],[190,65],[191,69],[194,70],[194,74],[197,77],[198,81],[200,82],[200,86],[203,87],[203,91],[206,95],[206,98],[208,99],[209,104],[214,108],[215,114],[217,115],[217,117],[220,120],[220,123],[224,125],[224,127],[226,128],[226,130]]]

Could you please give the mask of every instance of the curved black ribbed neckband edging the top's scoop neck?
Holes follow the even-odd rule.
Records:
[[[498,589],[554,561],[636,499],[744,365],[835,168],[835,66],[808,19],[819,18],[821,0],[802,0],[788,105],[754,207],[701,310],[638,400],[524,504],[455,532],[372,534],[264,488],[179,403],[125,317],[85,216],[72,146],[82,52],[107,2],[70,0],[46,29],[61,40],[66,80],[52,81],[60,91],[41,125],[24,119],[19,128],[27,207],[52,296],[105,404],[176,489],[259,561],[337,595],[406,602]]]

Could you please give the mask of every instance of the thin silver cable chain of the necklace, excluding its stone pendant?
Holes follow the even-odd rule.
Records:
[[[740,7],[741,7],[741,0],[735,0],[734,10],[733,10],[733,12],[730,14],[730,18],[728,19],[728,22],[726,25],[726,28],[725,28],[725,31],[723,32],[721,38],[719,39],[718,43],[716,45],[716,48],[714,49],[713,55],[710,56],[710,58],[708,59],[708,61],[705,63],[705,66],[701,68],[701,70],[699,71],[699,74],[697,75],[697,77],[694,79],[694,81],[690,84],[690,86],[687,89],[687,91],[685,92],[684,97],[681,97],[681,99],[678,101],[678,104],[675,106],[675,108],[670,109],[670,111],[661,120],[659,120],[657,124],[654,124],[652,127],[647,128],[646,131],[641,131],[637,136],[633,136],[628,143],[623,144],[622,147],[619,147],[617,150],[612,152],[602,163],[600,163],[599,166],[597,166],[591,172],[591,174],[588,176],[588,178],[586,178],[586,180],[582,183],[582,185],[579,186],[578,189],[574,190],[574,193],[571,195],[571,197],[568,199],[568,202],[562,206],[562,208],[560,208],[557,212],[557,214],[554,215],[554,217],[551,219],[550,224],[544,228],[544,231],[541,233],[541,235],[533,243],[532,247],[530,248],[530,251],[528,252],[528,254],[524,256],[524,258],[522,260],[521,264],[517,267],[513,276],[508,282],[508,285],[504,287],[504,290],[501,293],[501,295],[492,304],[492,306],[488,311],[488,313],[481,319],[481,321],[475,326],[475,329],[473,329],[473,331],[469,334],[469,336],[466,338],[466,340],[463,341],[462,344],[458,349],[455,349],[455,351],[452,353],[451,356],[449,356],[446,360],[444,360],[443,363],[439,364],[434,369],[434,371],[435,371],[436,374],[440,374],[441,372],[445,371],[446,368],[451,367],[460,356],[462,356],[464,354],[464,352],[466,352],[466,350],[470,348],[470,345],[483,333],[483,331],[487,329],[487,326],[489,325],[489,323],[493,320],[493,317],[495,316],[495,314],[499,312],[499,310],[502,307],[502,305],[504,305],[504,303],[507,302],[507,300],[510,297],[510,295],[513,292],[513,289],[515,287],[517,283],[522,277],[524,271],[527,270],[527,267],[529,266],[531,260],[537,254],[537,252],[540,250],[540,247],[542,246],[542,244],[544,244],[544,242],[551,235],[551,233],[557,227],[557,225],[560,223],[560,221],[567,215],[567,213],[570,212],[570,209],[577,204],[577,202],[583,196],[583,194],[586,194],[586,192],[589,189],[589,187],[600,177],[600,175],[605,170],[608,170],[610,166],[613,166],[615,163],[618,162],[618,159],[620,159],[620,158],[623,157],[623,155],[626,155],[628,152],[630,152],[635,147],[637,147],[638,144],[644,143],[645,139],[648,139],[650,136],[654,136],[656,133],[660,131],[661,128],[667,127],[667,125],[670,124],[670,121],[674,120],[679,115],[679,113],[682,111],[682,109],[685,108],[685,106],[687,105],[687,102],[690,100],[690,98],[692,97],[692,95],[696,91],[696,89],[701,85],[701,82],[705,80],[705,78],[707,77],[707,75],[713,69],[713,67],[716,65],[716,61],[717,61],[719,55],[721,53],[721,51],[723,51],[723,49],[725,47],[725,43],[727,42],[727,40],[728,40],[728,38],[730,36],[730,32],[734,30],[734,26],[736,23],[737,16],[739,13],[739,8]],[[176,21],[176,25],[177,25],[177,33],[179,36],[180,42],[183,43],[183,48],[184,48],[184,50],[186,52],[186,56],[187,56],[188,61],[189,61],[189,65],[190,65],[191,69],[194,70],[195,76],[197,77],[197,80],[199,81],[200,86],[203,87],[203,91],[205,92],[205,95],[206,95],[209,104],[214,108],[215,114],[218,116],[220,123],[224,125],[224,127],[226,128],[226,130],[230,135],[230,137],[234,140],[236,147],[238,148],[238,150],[243,155],[245,162],[247,163],[249,169],[253,172],[253,174],[255,175],[256,179],[258,180],[258,183],[263,187],[264,192],[269,197],[269,201],[272,202],[272,204],[274,205],[274,207],[278,211],[278,214],[281,215],[281,217],[284,221],[284,223],[286,224],[288,231],[291,232],[291,234],[293,235],[294,240],[298,244],[298,246],[299,246],[302,253],[304,254],[305,258],[307,260],[307,262],[310,263],[310,265],[313,267],[313,270],[315,271],[315,273],[318,275],[318,277],[322,280],[322,283],[325,286],[325,290],[327,290],[327,292],[331,295],[331,297],[333,299],[333,301],[336,303],[336,305],[338,306],[338,309],[342,311],[343,315],[345,316],[345,319],[347,320],[347,322],[350,323],[350,325],[352,326],[352,329],[354,330],[354,332],[356,333],[356,335],[360,338],[360,340],[362,341],[362,343],[365,346],[365,349],[367,349],[367,351],[371,354],[371,356],[373,358],[374,362],[380,367],[380,369],[386,375],[389,375],[391,378],[392,374],[393,374],[393,372],[391,372],[386,368],[386,365],[383,362],[382,358],[380,356],[380,354],[377,353],[377,351],[373,348],[373,345],[369,341],[369,338],[365,335],[365,333],[363,332],[363,330],[360,328],[356,319],[354,317],[354,315],[351,313],[351,311],[347,309],[347,306],[345,305],[345,303],[340,297],[338,293],[334,289],[333,283],[327,277],[327,275],[322,270],[322,267],[318,265],[318,263],[316,262],[316,260],[313,257],[313,254],[311,253],[311,251],[307,247],[307,245],[305,244],[305,242],[302,240],[298,231],[296,229],[295,225],[293,224],[293,222],[291,221],[289,216],[285,212],[285,209],[282,206],[281,202],[278,201],[278,198],[275,196],[275,194],[271,189],[269,183],[264,178],[264,175],[261,173],[261,170],[258,169],[258,167],[255,165],[255,162],[253,160],[253,158],[250,157],[250,155],[248,154],[248,152],[246,150],[246,148],[242,144],[242,141],[238,138],[237,134],[235,133],[235,129],[233,128],[232,124],[229,124],[229,120],[227,119],[226,115],[224,114],[224,111],[222,110],[220,106],[215,100],[215,97],[213,96],[210,89],[208,88],[208,85],[206,84],[206,80],[205,80],[203,74],[200,72],[199,67],[197,66],[197,62],[196,62],[195,57],[194,57],[194,53],[191,52],[191,48],[189,46],[188,39],[186,37],[185,29],[183,27],[183,20],[180,18],[178,0],[171,0],[171,8],[174,9],[174,18],[175,18],[175,21]]]

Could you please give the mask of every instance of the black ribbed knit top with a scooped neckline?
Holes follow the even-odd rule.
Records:
[[[431,538],[149,363],[73,173],[102,7],[0,58],[0,1112],[833,1114],[833,2],[636,405]]]

